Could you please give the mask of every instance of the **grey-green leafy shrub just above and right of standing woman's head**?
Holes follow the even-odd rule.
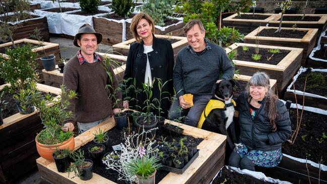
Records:
[[[163,26],[165,25],[163,21],[173,15],[173,5],[175,5],[175,3],[176,0],[147,0],[144,5],[140,7],[140,10],[149,15],[155,25]]]

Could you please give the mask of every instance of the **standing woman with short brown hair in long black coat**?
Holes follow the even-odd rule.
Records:
[[[128,81],[127,86],[136,82],[136,88],[141,89],[141,93],[136,94],[134,89],[129,92],[131,100],[124,101],[124,108],[128,106],[134,110],[146,112],[146,95],[143,92],[143,83],[151,85],[152,82],[152,98],[160,98],[157,78],[166,83],[161,91],[161,112],[158,114],[158,109],[151,110],[157,116],[167,118],[169,108],[171,106],[170,98],[174,95],[173,89],[173,67],[174,67],[174,51],[172,44],[168,40],[154,37],[154,23],[150,16],[139,13],[132,19],[131,32],[137,43],[130,46],[124,79],[132,78]],[[163,93],[166,92],[166,93]],[[137,95],[137,100],[136,100]],[[132,100],[133,99],[133,100]],[[137,103],[137,105],[136,105]],[[156,101],[153,102],[155,107],[158,107]],[[139,106],[139,107],[137,107]]]

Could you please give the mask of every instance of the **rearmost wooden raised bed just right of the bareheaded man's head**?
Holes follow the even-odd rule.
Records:
[[[266,26],[270,20],[272,20],[277,14],[261,14],[255,13],[255,17],[252,17],[252,13],[241,13],[241,16],[251,16],[248,19],[239,18],[237,14],[233,14],[222,20],[222,26],[235,27],[240,33],[246,35],[251,33],[259,26]],[[260,19],[259,19],[260,18]]]

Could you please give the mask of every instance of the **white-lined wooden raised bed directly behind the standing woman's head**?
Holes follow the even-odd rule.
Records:
[[[182,18],[175,18],[176,23],[168,26],[154,26],[155,34],[157,35],[171,35],[171,36],[185,36],[184,26]],[[126,40],[132,39],[133,34],[130,30],[131,19],[126,20]]]

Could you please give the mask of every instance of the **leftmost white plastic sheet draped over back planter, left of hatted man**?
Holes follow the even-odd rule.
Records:
[[[61,8],[72,8],[72,7],[61,7]],[[50,8],[52,9],[52,8]],[[57,13],[57,12],[47,12],[48,9],[34,10],[34,13],[41,16],[47,17],[49,32],[54,34],[62,34],[61,30],[61,16],[60,14],[66,14],[71,12],[78,12],[79,10]]]

